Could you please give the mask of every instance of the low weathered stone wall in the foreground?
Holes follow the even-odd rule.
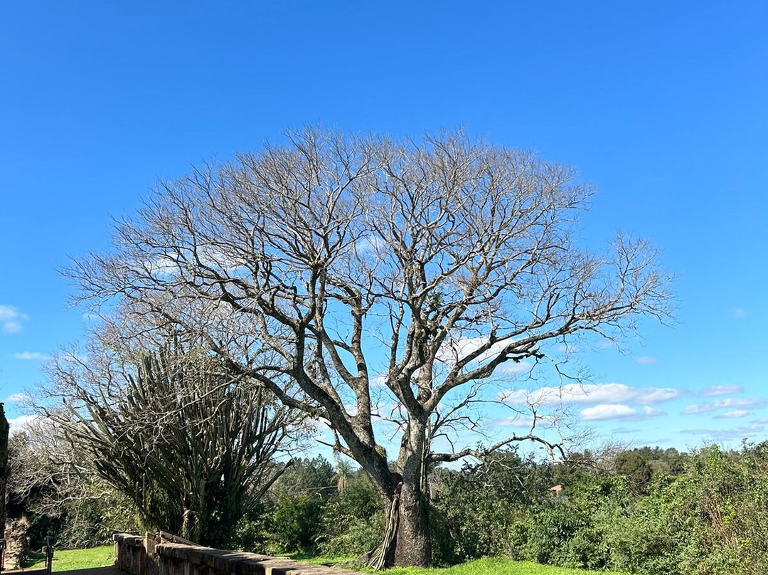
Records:
[[[129,575],[359,575],[285,557],[200,547],[165,533],[116,534],[114,563]]]

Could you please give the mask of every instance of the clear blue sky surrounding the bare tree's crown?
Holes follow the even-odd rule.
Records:
[[[585,240],[641,234],[678,275],[673,326],[585,354],[613,385],[574,405],[584,424],[665,447],[768,439],[766,25],[764,2],[5,2],[9,414],[88,324],[57,269],[106,248],[158,177],[307,122],[465,124],[577,166],[601,191]]]

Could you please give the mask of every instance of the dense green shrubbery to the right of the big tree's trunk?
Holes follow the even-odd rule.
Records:
[[[443,471],[433,504],[457,560],[492,554],[647,575],[768,573],[766,451],[644,448],[616,457],[611,473],[497,454]],[[548,493],[547,481],[564,491]]]

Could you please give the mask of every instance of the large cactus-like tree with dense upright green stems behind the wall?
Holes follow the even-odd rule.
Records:
[[[132,369],[59,357],[65,407],[46,415],[148,525],[225,546],[286,469],[275,457],[298,420],[218,357],[175,349]]]

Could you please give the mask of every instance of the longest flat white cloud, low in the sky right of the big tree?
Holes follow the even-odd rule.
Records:
[[[672,387],[629,387],[624,384],[568,384],[534,390],[507,390],[498,395],[510,405],[658,404],[682,396]]]

